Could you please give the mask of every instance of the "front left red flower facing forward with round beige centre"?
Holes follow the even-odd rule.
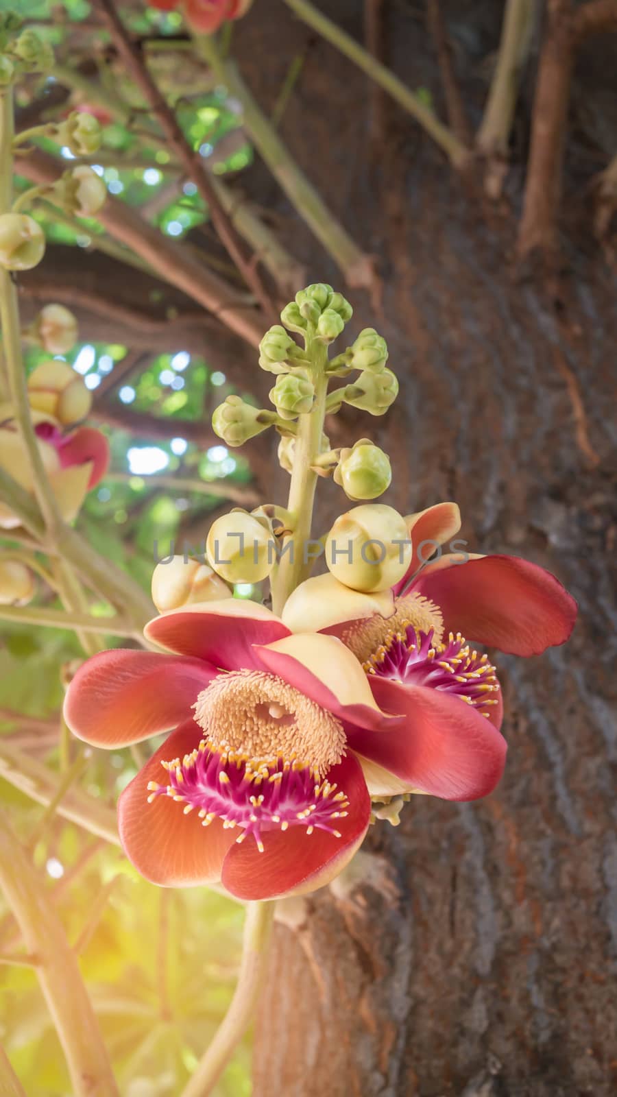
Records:
[[[322,886],[366,835],[364,767],[388,767],[393,747],[446,799],[484,795],[501,777],[494,723],[451,698],[462,710],[456,734],[430,699],[413,721],[386,713],[337,637],[292,634],[255,602],[186,606],[145,635],[172,654],[94,656],[68,689],[65,717],[112,749],[168,733],[119,805],[123,848],[157,884],[222,881],[243,900]]]

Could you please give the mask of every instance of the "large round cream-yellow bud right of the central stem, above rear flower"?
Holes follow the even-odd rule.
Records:
[[[326,564],[335,579],[366,593],[402,579],[412,558],[405,520],[384,504],[366,504],[337,518],[326,540]]]

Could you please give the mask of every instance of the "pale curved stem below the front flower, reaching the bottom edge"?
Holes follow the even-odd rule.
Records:
[[[259,902],[247,905],[240,972],[232,1004],[181,1097],[209,1097],[249,1025],[266,980],[274,906]]]

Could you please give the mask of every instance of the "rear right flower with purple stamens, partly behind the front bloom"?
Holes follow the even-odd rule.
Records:
[[[339,637],[362,663],[378,704],[405,712],[416,726],[431,709],[451,722],[452,737],[463,713],[465,722],[480,717],[498,727],[502,699],[495,668],[469,642],[539,655],[569,638],[576,603],[550,572],[517,556],[472,555],[465,561],[460,553],[448,553],[422,565],[423,555],[460,529],[456,504],[412,514],[406,524],[412,562],[393,587],[363,593],[330,573],[319,575],[293,591],[282,620],[292,630]],[[427,544],[428,552],[423,548]],[[396,749],[395,734],[386,732],[380,744],[388,765],[378,768],[373,759],[375,794],[378,789],[382,794],[408,791],[411,783],[427,791],[414,759],[404,759]],[[370,754],[370,744],[357,738],[356,746]]]

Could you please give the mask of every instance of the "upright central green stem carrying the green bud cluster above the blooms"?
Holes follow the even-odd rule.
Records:
[[[313,383],[315,403],[307,415],[301,415],[293,456],[293,472],[289,489],[287,509],[291,514],[293,533],[283,540],[281,558],[271,577],[272,609],[281,613],[292,590],[306,577],[311,561],[306,558],[306,546],[311,539],[313,504],[317,474],[311,467],[319,455],[328,377],[326,373],[327,350],[323,343],[313,340],[307,350],[313,355]]]

